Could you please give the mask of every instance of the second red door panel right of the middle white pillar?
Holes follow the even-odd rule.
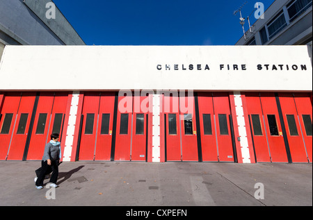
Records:
[[[182,133],[182,160],[198,161],[198,142],[195,122],[195,101],[193,96],[179,97],[180,105],[180,124]],[[188,106],[188,108],[187,108]],[[187,110],[188,109],[188,110]],[[184,115],[191,114],[192,117],[192,134],[185,132]]]

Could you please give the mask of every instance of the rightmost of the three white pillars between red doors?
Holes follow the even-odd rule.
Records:
[[[242,100],[240,92],[234,92],[234,104],[236,110],[236,120],[240,136],[240,149],[243,163],[250,163],[250,151],[246,131],[246,122],[243,114]]]

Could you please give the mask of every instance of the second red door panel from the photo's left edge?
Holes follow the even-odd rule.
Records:
[[[17,121],[15,124],[15,129],[13,131],[12,142],[10,144],[10,150],[8,153],[7,160],[22,160],[24,154],[24,148],[26,144],[27,134],[29,132],[29,125],[31,122],[31,114],[33,112],[33,105],[35,103],[35,93],[34,92],[24,92],[19,104],[19,111],[17,112]],[[26,120],[26,126],[24,133],[17,134],[19,127],[19,120],[22,114],[28,114]]]

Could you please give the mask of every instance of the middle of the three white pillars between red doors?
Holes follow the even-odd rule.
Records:
[[[152,96],[152,162],[160,162],[160,94],[153,94]]]

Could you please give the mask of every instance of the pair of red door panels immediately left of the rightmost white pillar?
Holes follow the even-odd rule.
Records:
[[[227,93],[198,93],[202,161],[234,161]]]

